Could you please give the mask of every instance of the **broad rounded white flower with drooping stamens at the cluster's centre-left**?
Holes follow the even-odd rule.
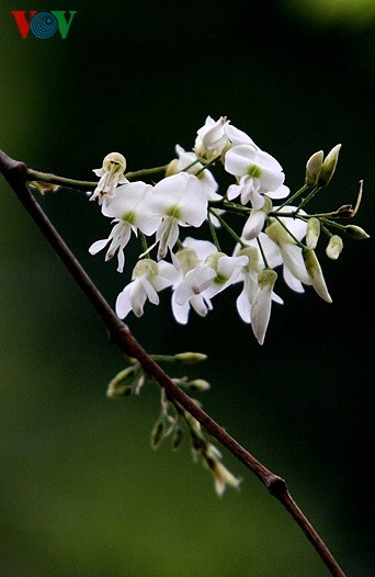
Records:
[[[200,227],[206,219],[207,207],[207,194],[193,174],[179,172],[154,186],[149,210],[161,217],[156,235],[156,244],[159,242],[158,259],[164,258],[167,250],[175,245],[179,225]]]

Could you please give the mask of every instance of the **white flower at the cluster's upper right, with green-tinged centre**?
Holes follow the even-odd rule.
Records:
[[[225,155],[225,170],[238,180],[228,188],[229,201],[240,196],[242,204],[250,201],[253,208],[260,210],[264,204],[263,194],[283,199],[289,193],[283,184],[285,176],[277,160],[251,145],[230,148]]]

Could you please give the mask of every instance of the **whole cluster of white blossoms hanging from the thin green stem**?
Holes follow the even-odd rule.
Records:
[[[105,259],[117,254],[117,271],[123,272],[132,231],[143,241],[132,282],[116,301],[120,318],[132,310],[141,316],[147,299],[158,304],[158,293],[171,287],[173,315],[178,323],[186,324],[191,308],[205,316],[218,293],[241,283],[238,313],[251,323],[262,344],[271,303],[282,303],[273,291],[277,267],[283,267],[284,280],[293,291],[304,292],[304,284],[312,285],[331,302],[314,248],[302,242],[307,234],[306,213],[280,203],[289,189],[275,158],[224,116],[218,121],[208,116],[192,150],[178,145],[175,152],[177,158],[156,184],[127,180],[125,158],[117,152],[105,157],[102,169],[94,171],[101,179],[91,200],[99,200],[102,214],[112,218],[114,226],[109,238],[90,247],[90,253],[107,247]],[[322,166],[322,157],[320,160]],[[217,167],[235,177],[224,192],[218,191],[212,172]],[[273,206],[273,201],[281,205]],[[241,222],[238,235],[225,219],[230,212]],[[180,238],[180,227],[197,229],[203,225],[211,230],[213,242]],[[219,229],[232,237],[230,254],[220,250]],[[152,237],[150,244],[147,237]],[[155,260],[150,258],[154,249]]]

